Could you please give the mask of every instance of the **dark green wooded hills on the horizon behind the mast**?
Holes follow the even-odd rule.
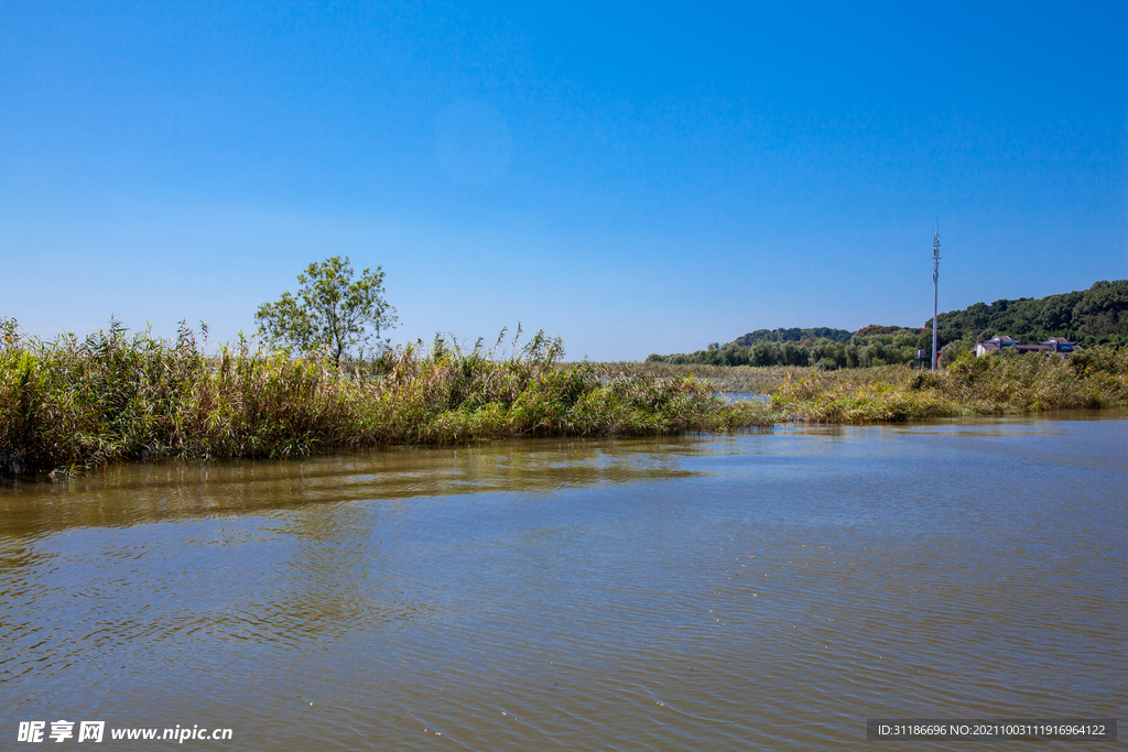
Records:
[[[1067,337],[1083,347],[1128,344],[1128,281],[1098,282],[1089,290],[1046,298],[996,300],[962,311],[941,313],[936,338],[942,362],[950,362],[977,342],[995,335],[1037,342]],[[694,365],[800,365],[827,370],[911,363],[918,351],[932,353],[932,320],[917,329],[871,324],[857,331],[757,329],[721,345],[673,355],[651,355],[649,362]]]

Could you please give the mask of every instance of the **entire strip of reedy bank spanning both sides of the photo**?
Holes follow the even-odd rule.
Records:
[[[0,321],[2,324],[2,321]],[[962,356],[937,373],[565,363],[437,339],[341,368],[245,343],[203,354],[118,327],[44,343],[0,327],[0,475],[164,457],[285,458],[385,444],[653,435],[1128,406],[1128,351]],[[770,393],[725,404],[719,390]]]

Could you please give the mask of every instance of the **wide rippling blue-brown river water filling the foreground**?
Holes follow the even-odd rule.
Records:
[[[0,749],[35,719],[229,727],[185,742],[223,750],[834,750],[867,717],[1122,718],[1128,416],[1099,417],[0,487]]]

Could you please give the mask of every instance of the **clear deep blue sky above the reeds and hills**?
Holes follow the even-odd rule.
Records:
[[[1128,277],[1128,5],[0,0],[0,316],[642,359]]]

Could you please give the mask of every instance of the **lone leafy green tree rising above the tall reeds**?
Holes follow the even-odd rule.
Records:
[[[342,356],[364,348],[380,331],[396,325],[396,309],[384,299],[384,271],[364,269],[353,280],[349,257],[310,264],[298,275],[298,294],[282,293],[255,312],[258,334],[271,345],[296,347],[303,353],[326,353],[341,364]]]

